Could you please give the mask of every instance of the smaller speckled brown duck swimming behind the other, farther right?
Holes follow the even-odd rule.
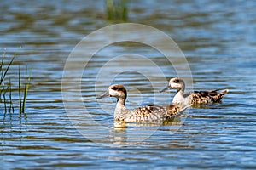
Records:
[[[184,94],[185,91],[185,82],[182,78],[174,77],[172,78],[167,87],[162,89],[160,92],[166,91],[168,88],[176,88],[177,94],[175,94],[172,99],[172,104],[182,104],[182,105],[201,105],[208,103],[219,102],[224,94],[229,92],[228,89],[218,93],[219,90],[211,90],[211,91],[194,91],[188,94]]]

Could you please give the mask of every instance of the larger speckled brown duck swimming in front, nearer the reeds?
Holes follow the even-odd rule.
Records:
[[[118,122],[164,122],[180,115],[190,105],[145,105],[134,110],[125,107],[127,92],[123,85],[113,84],[105,94],[98,99],[115,97],[117,105],[114,110],[114,120]]]

